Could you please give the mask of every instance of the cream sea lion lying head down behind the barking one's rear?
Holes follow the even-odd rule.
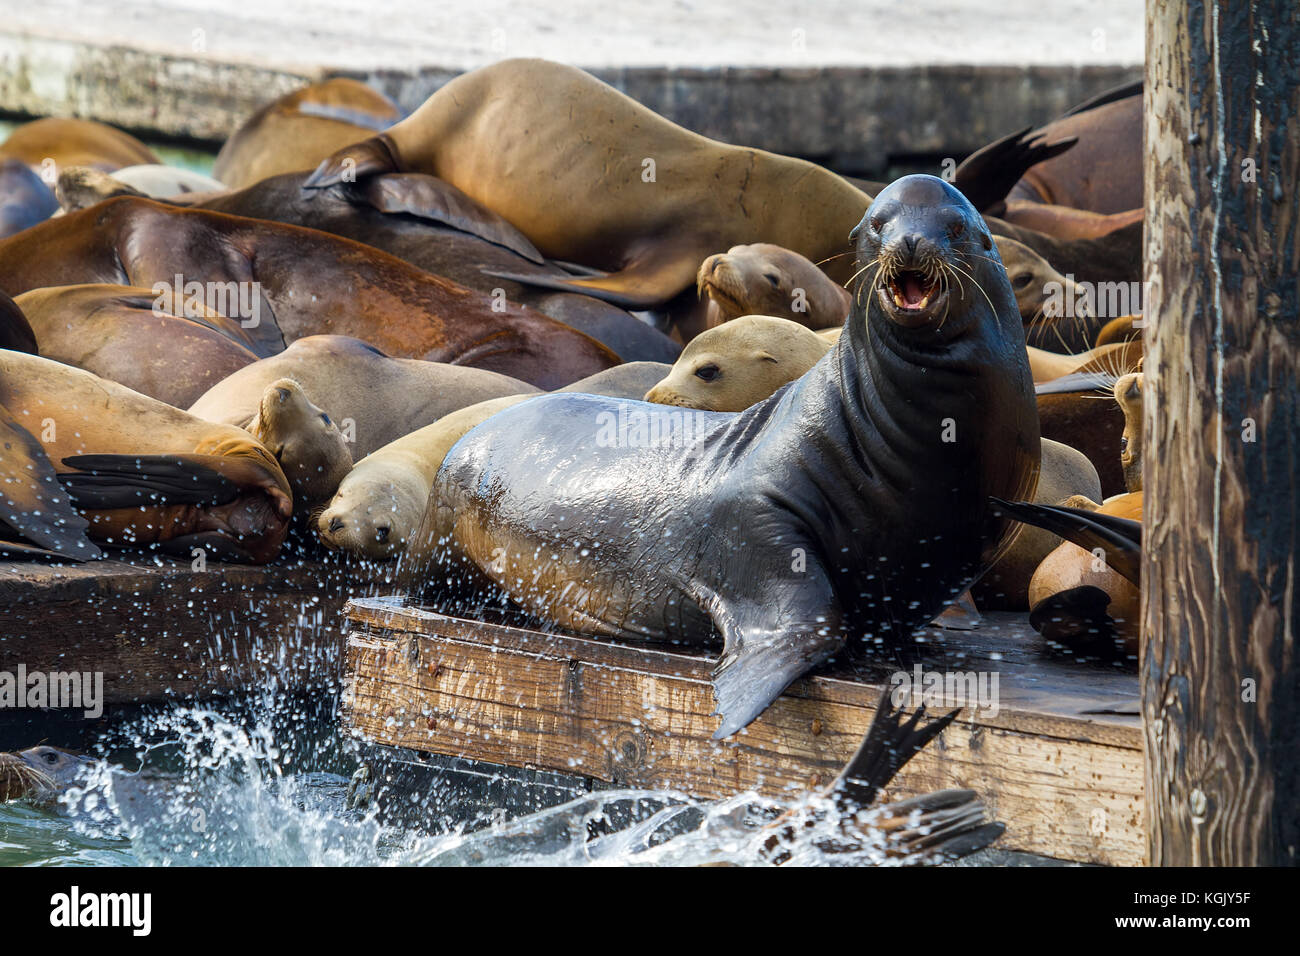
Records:
[[[630,362],[576,381],[560,392],[634,399],[666,371],[668,367],[659,362]],[[532,398],[532,394],[503,395],[458,408],[359,460],[315,519],[321,541],[332,550],[372,561],[399,555],[424,514],[433,476],[438,473],[447,450],[474,425]]]

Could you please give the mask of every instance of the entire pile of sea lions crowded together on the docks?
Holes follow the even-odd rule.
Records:
[[[719,737],[976,606],[1131,656],[1140,316],[1097,289],[1140,278],[1140,111],[892,183],[543,60],[408,116],[306,87],[211,179],[29,124],[0,144],[0,549],[268,562],[299,520],[412,597],[720,646]]]

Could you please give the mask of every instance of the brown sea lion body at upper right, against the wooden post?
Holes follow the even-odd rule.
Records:
[[[1141,85],[1118,99],[1083,104],[1039,130],[1050,138],[1076,137],[1067,152],[1036,164],[1008,199],[1069,206],[1102,215],[1143,204]]]

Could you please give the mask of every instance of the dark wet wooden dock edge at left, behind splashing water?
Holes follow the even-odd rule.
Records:
[[[376,584],[339,562],[266,567],[136,555],[0,562],[0,671],[100,672],[104,704],[335,687],[338,613]]]

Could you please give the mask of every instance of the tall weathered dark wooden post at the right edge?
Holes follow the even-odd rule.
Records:
[[[1147,4],[1153,865],[1300,861],[1300,5]]]

